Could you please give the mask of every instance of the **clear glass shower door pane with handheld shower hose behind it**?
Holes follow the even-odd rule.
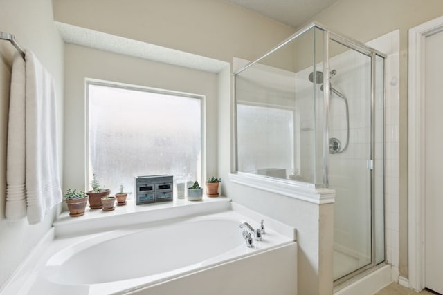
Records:
[[[334,280],[372,266],[371,56],[329,43],[329,187]]]

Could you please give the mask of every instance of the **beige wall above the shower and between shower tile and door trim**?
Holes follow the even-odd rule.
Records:
[[[405,277],[408,277],[408,29],[441,15],[441,0],[338,0],[312,19],[363,43],[399,29],[399,272]]]

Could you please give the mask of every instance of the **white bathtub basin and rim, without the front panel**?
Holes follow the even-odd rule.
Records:
[[[193,211],[170,221],[55,238],[14,294],[124,294],[294,243],[295,229],[249,213]],[[262,242],[247,248],[239,224],[256,228],[260,218],[271,226]]]

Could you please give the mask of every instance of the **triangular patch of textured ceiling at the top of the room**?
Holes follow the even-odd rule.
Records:
[[[300,28],[318,12],[331,6],[336,0],[222,0],[242,6],[280,21],[293,28]]]

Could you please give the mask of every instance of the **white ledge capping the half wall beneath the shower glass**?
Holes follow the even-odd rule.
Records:
[[[316,189],[312,186],[302,186],[292,181],[278,180],[275,178],[254,177],[243,173],[229,174],[230,182],[246,185],[262,191],[278,193],[290,198],[304,200],[314,204],[330,204],[335,202],[334,189]]]

